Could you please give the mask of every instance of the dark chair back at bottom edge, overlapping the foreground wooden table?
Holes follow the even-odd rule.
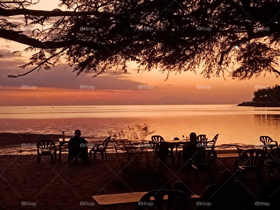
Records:
[[[164,199],[164,196],[168,196]],[[185,195],[179,190],[152,190],[141,197],[136,210],[186,210]]]

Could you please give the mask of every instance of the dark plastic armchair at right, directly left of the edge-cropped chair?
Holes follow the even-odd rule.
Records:
[[[262,180],[262,167],[265,161],[265,151],[262,149],[248,149],[245,150],[239,160],[235,160],[234,169],[244,173],[246,179],[246,172],[256,172],[258,179]],[[242,165],[239,165],[239,163]]]

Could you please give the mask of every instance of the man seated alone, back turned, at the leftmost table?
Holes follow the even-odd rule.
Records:
[[[75,136],[68,142],[68,162],[71,163],[73,159],[78,162],[77,158],[81,158],[83,164],[88,161],[88,146],[87,141],[81,137],[81,131],[75,130]]]

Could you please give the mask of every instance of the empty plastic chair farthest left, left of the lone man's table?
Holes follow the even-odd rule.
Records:
[[[56,162],[56,147],[53,140],[40,140],[37,143],[37,161],[41,163],[42,155],[50,155],[50,160],[53,163],[53,156]]]

